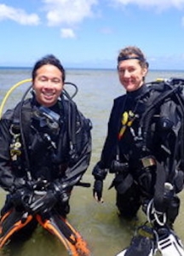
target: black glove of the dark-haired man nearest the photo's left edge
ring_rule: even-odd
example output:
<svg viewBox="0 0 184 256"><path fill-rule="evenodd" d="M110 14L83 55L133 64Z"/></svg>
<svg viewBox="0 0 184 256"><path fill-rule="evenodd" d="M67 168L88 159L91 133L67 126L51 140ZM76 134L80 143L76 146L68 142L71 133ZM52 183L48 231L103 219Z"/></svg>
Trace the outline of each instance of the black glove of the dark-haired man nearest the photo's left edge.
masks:
<svg viewBox="0 0 184 256"><path fill-rule="evenodd" d="M27 189L26 187L17 189L14 193L10 195L11 201L14 207L20 210L26 210L30 212L30 204L32 203L33 191Z"/></svg>

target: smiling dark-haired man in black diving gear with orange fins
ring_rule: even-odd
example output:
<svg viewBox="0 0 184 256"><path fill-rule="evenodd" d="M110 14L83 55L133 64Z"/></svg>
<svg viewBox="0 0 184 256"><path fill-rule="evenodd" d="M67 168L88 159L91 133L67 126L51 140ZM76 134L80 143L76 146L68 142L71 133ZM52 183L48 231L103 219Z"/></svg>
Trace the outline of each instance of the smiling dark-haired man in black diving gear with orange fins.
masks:
<svg viewBox="0 0 184 256"><path fill-rule="evenodd" d="M89 166L91 124L64 93L64 83L64 67L55 55L46 55L32 69L32 97L0 120L0 185L9 192L1 211L0 247L15 231L21 234L21 222L16 222L23 215L22 225L31 223L28 230L35 228L37 214L39 223L49 219L52 224L53 214L66 219L72 189ZM61 241L79 250L78 241L67 235L72 230L65 228Z"/></svg>

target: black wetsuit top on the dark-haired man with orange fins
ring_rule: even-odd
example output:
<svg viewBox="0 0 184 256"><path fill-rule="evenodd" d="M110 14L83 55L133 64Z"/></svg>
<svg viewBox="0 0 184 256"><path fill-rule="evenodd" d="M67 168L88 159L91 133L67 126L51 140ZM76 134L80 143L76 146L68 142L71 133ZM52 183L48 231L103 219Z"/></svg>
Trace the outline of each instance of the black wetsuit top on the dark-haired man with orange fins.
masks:
<svg viewBox="0 0 184 256"><path fill-rule="evenodd" d="M23 104L21 114L26 148L23 146L21 135L18 136L18 143L21 144L18 148L20 154L14 154L17 142L14 142L16 136L13 135L20 134L20 104L4 113L0 121L0 185L10 193L16 191L16 186L19 189L22 181L27 182L28 172L31 173L32 181L44 180L46 183L52 183L57 180L64 183L66 177L73 173L71 180L77 178L78 182L89 166L89 119L83 117L74 102L62 98L55 106L49 108L49 111L59 116L58 124L55 124L58 125L56 129L52 122L48 125L47 118L39 116L39 108L34 97ZM26 161L25 149L29 164ZM70 193L72 187L69 186L67 190ZM61 213L69 212L68 202L59 207L63 211Z"/></svg>

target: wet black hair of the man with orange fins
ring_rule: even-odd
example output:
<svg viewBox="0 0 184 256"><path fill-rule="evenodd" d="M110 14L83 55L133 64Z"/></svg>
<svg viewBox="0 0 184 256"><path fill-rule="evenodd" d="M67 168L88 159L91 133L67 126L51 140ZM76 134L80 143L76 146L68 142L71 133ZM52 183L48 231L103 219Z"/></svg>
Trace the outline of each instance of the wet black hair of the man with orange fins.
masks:
<svg viewBox="0 0 184 256"><path fill-rule="evenodd" d="M60 60L58 60L55 55L45 55L42 59L36 62L35 66L32 69L32 81L37 76L37 69L42 67L43 65L53 65L60 69L60 72L62 73L62 81L65 82L66 79L66 72L64 67L61 65Z"/></svg>

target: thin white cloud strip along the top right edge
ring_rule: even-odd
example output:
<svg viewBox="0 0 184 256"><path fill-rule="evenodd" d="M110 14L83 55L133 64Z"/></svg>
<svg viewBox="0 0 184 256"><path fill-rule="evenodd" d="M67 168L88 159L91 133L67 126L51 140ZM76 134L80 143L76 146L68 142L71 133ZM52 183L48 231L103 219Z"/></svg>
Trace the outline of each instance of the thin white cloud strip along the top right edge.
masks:
<svg viewBox="0 0 184 256"><path fill-rule="evenodd" d="M136 4L141 7L155 7L159 10L168 8L184 9L184 0L109 0L111 3L125 5Z"/></svg>

